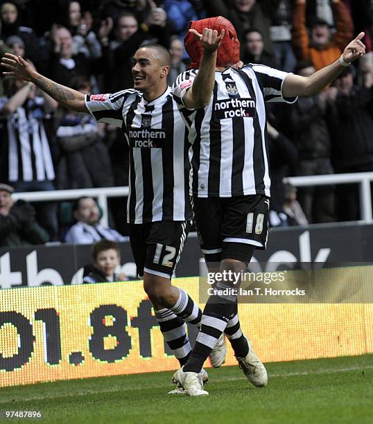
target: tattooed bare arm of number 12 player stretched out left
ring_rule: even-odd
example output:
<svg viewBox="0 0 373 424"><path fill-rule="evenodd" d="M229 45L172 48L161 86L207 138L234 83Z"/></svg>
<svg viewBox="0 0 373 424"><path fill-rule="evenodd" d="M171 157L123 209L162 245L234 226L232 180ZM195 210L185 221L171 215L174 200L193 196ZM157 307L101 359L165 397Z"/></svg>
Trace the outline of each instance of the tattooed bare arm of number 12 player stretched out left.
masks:
<svg viewBox="0 0 373 424"><path fill-rule="evenodd" d="M1 58L1 66L8 69L8 71L3 72L3 75L31 81L46 94L54 98L60 105L73 109L76 112L89 113L85 106L84 94L60 85L37 73L21 56L5 53L3 58Z"/></svg>

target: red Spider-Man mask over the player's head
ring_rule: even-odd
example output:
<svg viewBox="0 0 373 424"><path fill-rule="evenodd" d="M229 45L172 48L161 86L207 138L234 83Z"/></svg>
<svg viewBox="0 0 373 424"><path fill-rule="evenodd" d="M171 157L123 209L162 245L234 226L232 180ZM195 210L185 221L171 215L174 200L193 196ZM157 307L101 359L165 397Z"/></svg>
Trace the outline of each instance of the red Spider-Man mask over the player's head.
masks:
<svg viewBox="0 0 373 424"><path fill-rule="evenodd" d="M199 21L190 21L189 29L195 29L202 34L205 28L217 30L220 35L221 30L225 30L223 39L218 48L216 58L216 67L229 67L240 60L240 42L237 38L236 30L231 21L225 17L218 16L214 18L200 19ZM199 39L196 39L193 33L186 33L184 38L185 49L191 58L191 68L198 69L202 59L203 46Z"/></svg>

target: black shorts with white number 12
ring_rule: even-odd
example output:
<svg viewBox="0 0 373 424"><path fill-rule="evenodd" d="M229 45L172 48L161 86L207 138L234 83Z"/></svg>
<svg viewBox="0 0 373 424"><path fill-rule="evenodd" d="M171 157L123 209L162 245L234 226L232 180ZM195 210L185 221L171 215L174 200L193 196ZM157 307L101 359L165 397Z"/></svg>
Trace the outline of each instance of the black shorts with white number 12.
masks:
<svg viewBox="0 0 373 424"><path fill-rule="evenodd" d="M190 227L190 221L130 224L130 243L137 275L142 277L145 271L171 279Z"/></svg>

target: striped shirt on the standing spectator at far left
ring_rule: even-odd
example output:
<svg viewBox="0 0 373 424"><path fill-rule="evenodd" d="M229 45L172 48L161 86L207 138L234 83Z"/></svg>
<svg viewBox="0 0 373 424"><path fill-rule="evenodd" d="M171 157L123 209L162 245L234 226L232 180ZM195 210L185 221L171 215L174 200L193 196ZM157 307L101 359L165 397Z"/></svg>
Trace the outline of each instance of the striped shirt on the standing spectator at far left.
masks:
<svg viewBox="0 0 373 424"><path fill-rule="evenodd" d="M0 98L0 111L9 98ZM49 141L43 125L44 98L28 99L0 122L0 178L8 182L55 179Z"/></svg>

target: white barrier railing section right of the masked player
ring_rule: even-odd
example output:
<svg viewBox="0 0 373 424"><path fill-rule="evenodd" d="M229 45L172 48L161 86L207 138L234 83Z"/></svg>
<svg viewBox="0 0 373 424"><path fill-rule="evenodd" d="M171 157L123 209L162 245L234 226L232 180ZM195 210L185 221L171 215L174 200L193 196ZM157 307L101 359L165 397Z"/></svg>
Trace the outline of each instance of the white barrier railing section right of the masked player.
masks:
<svg viewBox="0 0 373 424"><path fill-rule="evenodd" d="M373 173L351 173L332 175L310 175L305 177L287 177L284 182L289 182L295 187L326 186L329 184L359 184L361 220L372 223L372 192L370 182L373 181Z"/></svg>

